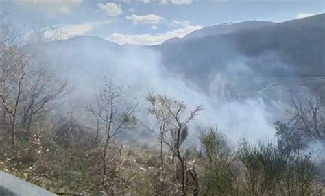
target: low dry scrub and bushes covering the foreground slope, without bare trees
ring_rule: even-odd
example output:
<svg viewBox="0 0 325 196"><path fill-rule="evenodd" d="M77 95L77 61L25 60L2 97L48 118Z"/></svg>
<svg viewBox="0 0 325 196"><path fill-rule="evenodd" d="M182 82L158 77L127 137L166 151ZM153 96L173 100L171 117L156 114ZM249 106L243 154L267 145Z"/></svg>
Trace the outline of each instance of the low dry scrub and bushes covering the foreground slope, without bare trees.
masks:
<svg viewBox="0 0 325 196"><path fill-rule="evenodd" d="M106 157L93 145L95 132L76 122L34 127L16 147L1 133L0 169L53 193L84 195L317 195L324 186L315 164L304 154L281 154L276 145L241 142L228 147L215 127L200 134L199 149L184 149L185 190L179 162L158 150L111 143ZM21 130L19 130L21 132ZM102 143L105 143L103 140ZM100 146L100 145L99 145ZM106 176L99 173L104 167ZM162 176L163 175L163 176ZM163 182L163 183L162 183Z"/></svg>

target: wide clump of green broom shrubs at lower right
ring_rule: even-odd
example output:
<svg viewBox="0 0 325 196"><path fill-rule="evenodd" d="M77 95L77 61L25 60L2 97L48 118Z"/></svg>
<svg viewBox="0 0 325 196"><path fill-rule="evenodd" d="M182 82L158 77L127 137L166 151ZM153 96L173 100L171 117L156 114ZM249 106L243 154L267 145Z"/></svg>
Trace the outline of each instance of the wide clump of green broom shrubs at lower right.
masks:
<svg viewBox="0 0 325 196"><path fill-rule="evenodd" d="M272 143L241 143L248 191L254 195L310 195L313 164L302 154L282 154Z"/></svg>

